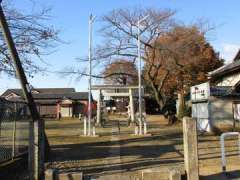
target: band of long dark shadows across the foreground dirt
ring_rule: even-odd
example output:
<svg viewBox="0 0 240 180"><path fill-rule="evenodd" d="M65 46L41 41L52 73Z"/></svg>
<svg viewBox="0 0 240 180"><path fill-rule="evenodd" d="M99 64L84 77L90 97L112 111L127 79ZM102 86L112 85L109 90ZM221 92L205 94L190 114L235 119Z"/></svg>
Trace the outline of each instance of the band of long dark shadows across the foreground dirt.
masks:
<svg viewBox="0 0 240 180"><path fill-rule="evenodd" d="M51 146L50 161L52 164L57 164L55 166L57 169L63 171L81 169L84 174L130 172L161 165L179 164L183 162L183 154L175 147L182 145L181 138L176 138L179 135L176 133L170 136L155 135L92 143L53 145ZM171 139L169 144L151 143L153 141L161 142L168 138ZM167 153L175 155L161 157ZM116 162L115 159L120 159L120 162ZM103 163L84 164L82 163L84 160L102 161Z"/></svg>

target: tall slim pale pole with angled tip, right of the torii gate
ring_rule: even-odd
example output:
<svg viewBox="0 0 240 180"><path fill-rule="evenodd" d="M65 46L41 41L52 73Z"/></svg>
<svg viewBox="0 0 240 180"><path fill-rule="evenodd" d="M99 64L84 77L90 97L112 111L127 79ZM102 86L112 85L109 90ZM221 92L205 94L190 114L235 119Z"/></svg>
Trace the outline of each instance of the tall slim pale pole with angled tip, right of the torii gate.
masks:
<svg viewBox="0 0 240 180"><path fill-rule="evenodd" d="M149 15L143 17L142 19L138 20L138 112L139 112L139 134L142 135L142 61L141 61L141 32L140 32L140 25L141 22L143 22L146 18L148 18Z"/></svg>

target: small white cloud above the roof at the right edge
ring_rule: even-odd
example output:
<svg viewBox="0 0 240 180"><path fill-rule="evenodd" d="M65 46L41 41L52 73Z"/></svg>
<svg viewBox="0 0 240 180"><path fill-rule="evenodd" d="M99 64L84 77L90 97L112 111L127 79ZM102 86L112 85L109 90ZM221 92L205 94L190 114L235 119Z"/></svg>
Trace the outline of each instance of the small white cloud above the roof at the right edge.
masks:
<svg viewBox="0 0 240 180"><path fill-rule="evenodd" d="M220 55L226 62L231 62L238 50L240 49L240 44L233 43L223 43L220 51Z"/></svg>

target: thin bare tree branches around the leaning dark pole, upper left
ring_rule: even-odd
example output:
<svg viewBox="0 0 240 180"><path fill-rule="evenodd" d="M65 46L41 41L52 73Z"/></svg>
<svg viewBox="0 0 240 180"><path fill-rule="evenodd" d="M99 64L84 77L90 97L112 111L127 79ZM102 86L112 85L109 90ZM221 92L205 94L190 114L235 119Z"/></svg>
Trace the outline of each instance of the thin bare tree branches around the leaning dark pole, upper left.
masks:
<svg viewBox="0 0 240 180"><path fill-rule="evenodd" d="M14 8L10 0L4 1L3 9L24 70L32 76L41 70L38 63L32 59L37 57L43 61L42 55L54 51L54 47L60 42L59 31L46 23L50 18L51 9L42 8L38 12L27 14ZM14 76L15 71L2 34L0 34L0 47L0 72Z"/></svg>

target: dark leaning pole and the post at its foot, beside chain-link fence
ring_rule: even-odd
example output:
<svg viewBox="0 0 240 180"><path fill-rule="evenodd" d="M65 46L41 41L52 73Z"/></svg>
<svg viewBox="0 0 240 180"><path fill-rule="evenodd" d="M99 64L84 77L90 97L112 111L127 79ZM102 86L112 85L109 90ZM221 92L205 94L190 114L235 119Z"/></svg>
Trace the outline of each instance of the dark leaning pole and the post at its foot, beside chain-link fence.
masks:
<svg viewBox="0 0 240 180"><path fill-rule="evenodd" d="M43 122L40 120L39 113L36 108L36 104L33 100L31 89L29 83L27 81L26 75L24 73L24 69L22 67L17 49L15 47L11 32L9 30L2 6L0 1L0 26L2 28L3 37L8 46L10 55L13 60L14 68L16 70L17 78L20 81L23 95L25 100L27 101L30 113L31 113L31 121L29 127L29 172L31 180L38 180L41 178L41 175L44 170L44 142L43 139L44 131L43 131ZM47 141L46 141L47 142Z"/></svg>

